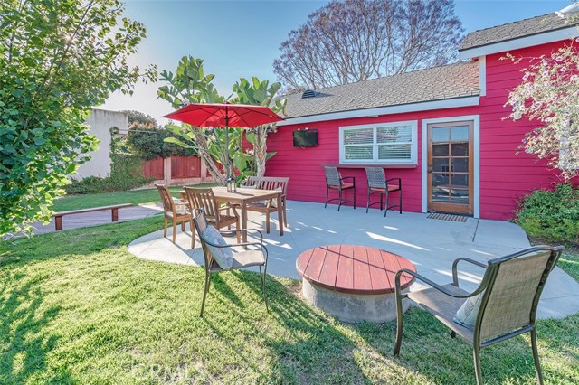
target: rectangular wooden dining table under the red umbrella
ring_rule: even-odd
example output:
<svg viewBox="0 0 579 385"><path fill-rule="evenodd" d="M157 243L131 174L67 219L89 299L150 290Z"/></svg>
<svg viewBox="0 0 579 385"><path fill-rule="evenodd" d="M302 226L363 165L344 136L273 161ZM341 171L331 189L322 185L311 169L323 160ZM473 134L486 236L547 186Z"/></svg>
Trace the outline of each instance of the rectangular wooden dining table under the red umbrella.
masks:
<svg viewBox="0 0 579 385"><path fill-rule="evenodd" d="M226 187L212 187L215 200L218 203L228 202L239 205L242 215L242 229L247 229L247 205L252 202L269 201L271 199L277 200L278 207L278 223L280 227L280 235L283 235L283 213L281 207L281 192L277 190L257 190L238 188L236 192L227 192ZM181 192L183 197L185 192ZM247 232L242 231L242 242L247 242Z"/></svg>

